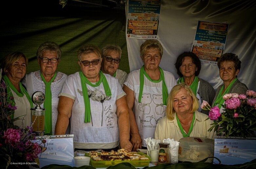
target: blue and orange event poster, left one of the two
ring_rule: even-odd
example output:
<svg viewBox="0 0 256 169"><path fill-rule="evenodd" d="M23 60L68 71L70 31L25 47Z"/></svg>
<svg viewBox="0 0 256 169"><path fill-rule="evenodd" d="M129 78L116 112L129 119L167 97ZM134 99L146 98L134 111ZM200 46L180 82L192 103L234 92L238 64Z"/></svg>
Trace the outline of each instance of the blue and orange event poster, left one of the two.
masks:
<svg viewBox="0 0 256 169"><path fill-rule="evenodd" d="M161 0L129 0L127 37L157 39Z"/></svg>

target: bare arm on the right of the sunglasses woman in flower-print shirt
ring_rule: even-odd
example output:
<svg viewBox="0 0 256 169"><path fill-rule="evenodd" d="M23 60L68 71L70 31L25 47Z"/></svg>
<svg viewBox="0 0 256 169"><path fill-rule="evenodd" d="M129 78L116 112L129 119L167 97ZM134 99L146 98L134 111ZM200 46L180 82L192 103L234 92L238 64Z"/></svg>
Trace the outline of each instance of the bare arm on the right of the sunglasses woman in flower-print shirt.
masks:
<svg viewBox="0 0 256 169"><path fill-rule="evenodd" d="M131 152L132 144L130 143L130 122L128 106L125 96L116 100L116 115L118 117L118 128L120 137L120 146L126 151Z"/></svg>

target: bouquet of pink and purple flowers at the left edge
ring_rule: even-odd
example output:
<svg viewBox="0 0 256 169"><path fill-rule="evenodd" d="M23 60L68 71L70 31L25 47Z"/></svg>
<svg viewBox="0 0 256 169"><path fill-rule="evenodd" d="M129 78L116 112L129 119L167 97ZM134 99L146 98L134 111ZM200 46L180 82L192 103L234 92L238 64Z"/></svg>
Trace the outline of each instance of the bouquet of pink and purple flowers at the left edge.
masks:
<svg viewBox="0 0 256 169"><path fill-rule="evenodd" d="M2 69L0 70L1 80ZM6 85L0 82L0 168L39 168L38 154L41 153L44 145L32 143L35 133L30 126L14 126L16 120L23 120L21 117L13 118L16 110L13 97L6 93ZM23 124L23 122L22 122ZM43 140L41 144L45 144ZM23 165L19 165L22 163ZM28 163L28 165L27 165Z"/></svg>

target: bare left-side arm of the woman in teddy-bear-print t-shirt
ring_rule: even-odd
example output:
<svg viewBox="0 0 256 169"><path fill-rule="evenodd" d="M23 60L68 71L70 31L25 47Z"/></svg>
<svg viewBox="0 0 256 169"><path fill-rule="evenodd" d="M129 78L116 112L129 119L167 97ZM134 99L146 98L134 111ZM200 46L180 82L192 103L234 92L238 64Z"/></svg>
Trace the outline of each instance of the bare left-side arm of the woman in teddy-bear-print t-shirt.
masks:
<svg viewBox="0 0 256 169"><path fill-rule="evenodd" d="M138 148L141 148L142 140L139 134L138 126L136 124L134 113L132 111L135 100L134 92L131 89L129 89L126 85L124 85L123 90L126 93L126 101L129 110L132 151L136 151Z"/></svg>

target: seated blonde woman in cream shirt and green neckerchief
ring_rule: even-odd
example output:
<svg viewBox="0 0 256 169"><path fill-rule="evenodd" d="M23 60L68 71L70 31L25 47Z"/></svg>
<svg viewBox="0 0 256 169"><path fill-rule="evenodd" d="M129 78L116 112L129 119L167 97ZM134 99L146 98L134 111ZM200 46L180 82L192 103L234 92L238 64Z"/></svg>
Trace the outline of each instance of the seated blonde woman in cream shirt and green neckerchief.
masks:
<svg viewBox="0 0 256 169"><path fill-rule="evenodd" d="M183 137L214 139L214 131L206 114L197 111L198 101L193 91L185 84L174 86L168 96L166 116L156 126L155 139L170 138L179 141Z"/></svg>

